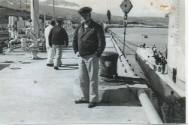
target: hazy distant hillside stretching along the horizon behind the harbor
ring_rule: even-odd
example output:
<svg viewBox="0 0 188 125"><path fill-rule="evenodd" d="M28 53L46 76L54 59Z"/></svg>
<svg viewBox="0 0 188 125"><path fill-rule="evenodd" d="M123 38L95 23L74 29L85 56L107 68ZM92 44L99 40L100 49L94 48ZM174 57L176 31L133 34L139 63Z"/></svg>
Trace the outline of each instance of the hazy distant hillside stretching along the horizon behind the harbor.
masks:
<svg viewBox="0 0 188 125"><path fill-rule="evenodd" d="M14 16L23 16L23 17L30 17L29 10L19 10L18 5L0 5L0 16L1 20L7 20L9 15ZM44 13L49 17L53 16L51 6L40 6L40 15L42 16ZM74 9L67 9L67 8L55 8L55 15L56 17L61 16L62 18L70 18L73 22L79 22L80 16L77 10ZM92 18L97 22L106 22L107 18L104 14L92 13ZM112 23L123 24L123 17L120 16L112 16ZM143 25L155 25L155 26L167 26L168 25L168 18L158 18L158 17L128 17L128 24L143 24Z"/></svg>

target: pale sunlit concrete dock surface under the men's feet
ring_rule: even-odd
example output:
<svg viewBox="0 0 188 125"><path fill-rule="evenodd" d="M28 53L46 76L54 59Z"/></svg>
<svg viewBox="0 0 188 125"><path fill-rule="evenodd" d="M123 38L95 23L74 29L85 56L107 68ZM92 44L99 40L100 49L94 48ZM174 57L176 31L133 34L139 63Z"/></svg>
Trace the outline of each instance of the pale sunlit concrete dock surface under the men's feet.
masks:
<svg viewBox="0 0 188 125"><path fill-rule="evenodd" d="M99 83L99 104L75 104L78 64L71 47L59 70L46 66L46 53L31 60L20 49L0 55L0 124L147 124L133 91L145 85Z"/></svg>

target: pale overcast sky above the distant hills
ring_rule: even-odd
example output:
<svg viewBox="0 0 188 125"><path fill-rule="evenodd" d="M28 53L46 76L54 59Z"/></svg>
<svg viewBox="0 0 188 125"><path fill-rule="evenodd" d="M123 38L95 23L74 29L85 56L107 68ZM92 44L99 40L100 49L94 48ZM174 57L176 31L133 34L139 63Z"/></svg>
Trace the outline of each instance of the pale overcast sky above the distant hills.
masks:
<svg viewBox="0 0 188 125"><path fill-rule="evenodd" d="M96 13L106 14L107 9L111 10L113 15L122 16L123 12L120 9L122 0L55 0L59 2L74 3L75 6L64 6L58 4L59 7L66 7L71 9L79 9L83 6L90 6ZM165 12L160 11L159 4L161 1L168 0L131 0L133 9L130 11L130 16L164 16Z"/></svg>

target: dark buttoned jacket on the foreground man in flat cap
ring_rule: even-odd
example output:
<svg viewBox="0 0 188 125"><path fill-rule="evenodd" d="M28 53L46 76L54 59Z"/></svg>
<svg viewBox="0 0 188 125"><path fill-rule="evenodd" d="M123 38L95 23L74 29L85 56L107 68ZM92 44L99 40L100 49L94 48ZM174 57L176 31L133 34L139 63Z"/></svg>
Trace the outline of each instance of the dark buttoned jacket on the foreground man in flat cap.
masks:
<svg viewBox="0 0 188 125"><path fill-rule="evenodd" d="M81 24L75 31L73 39L74 52L79 52L80 56L97 54L101 56L106 46L104 31L102 26L90 20L88 28L84 31Z"/></svg>

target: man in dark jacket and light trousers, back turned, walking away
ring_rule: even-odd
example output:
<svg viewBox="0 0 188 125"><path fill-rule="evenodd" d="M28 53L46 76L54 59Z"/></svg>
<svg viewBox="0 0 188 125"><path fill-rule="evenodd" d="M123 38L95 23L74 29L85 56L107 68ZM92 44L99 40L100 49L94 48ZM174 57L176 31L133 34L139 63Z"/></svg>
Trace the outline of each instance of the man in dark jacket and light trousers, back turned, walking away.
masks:
<svg viewBox="0 0 188 125"><path fill-rule="evenodd" d="M62 28L62 20L57 20L58 25L54 26L49 35L49 45L55 50L54 69L58 70L61 65L63 46L68 46L68 35L64 28Z"/></svg>

